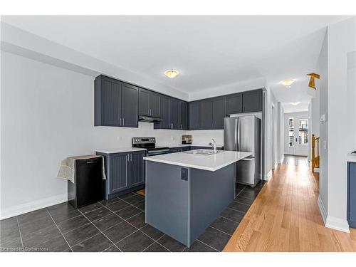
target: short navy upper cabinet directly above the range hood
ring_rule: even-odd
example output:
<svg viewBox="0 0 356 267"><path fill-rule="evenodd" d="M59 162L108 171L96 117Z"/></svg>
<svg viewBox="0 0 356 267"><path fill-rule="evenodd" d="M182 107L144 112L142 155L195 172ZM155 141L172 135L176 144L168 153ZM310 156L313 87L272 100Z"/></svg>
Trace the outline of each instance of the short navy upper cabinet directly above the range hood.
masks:
<svg viewBox="0 0 356 267"><path fill-rule="evenodd" d="M160 117L159 109L159 97L158 93L154 93L150 90L140 88L139 92L139 114Z"/></svg>

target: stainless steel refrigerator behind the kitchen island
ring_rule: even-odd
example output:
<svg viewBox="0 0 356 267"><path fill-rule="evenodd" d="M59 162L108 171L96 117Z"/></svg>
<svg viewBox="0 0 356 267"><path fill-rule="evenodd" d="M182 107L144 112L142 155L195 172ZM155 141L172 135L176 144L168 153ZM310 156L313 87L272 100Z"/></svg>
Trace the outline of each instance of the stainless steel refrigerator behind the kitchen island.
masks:
<svg viewBox="0 0 356 267"><path fill-rule="evenodd" d="M261 179L261 120L254 115L224 118L224 150L252 152L236 162L236 182L255 187Z"/></svg>

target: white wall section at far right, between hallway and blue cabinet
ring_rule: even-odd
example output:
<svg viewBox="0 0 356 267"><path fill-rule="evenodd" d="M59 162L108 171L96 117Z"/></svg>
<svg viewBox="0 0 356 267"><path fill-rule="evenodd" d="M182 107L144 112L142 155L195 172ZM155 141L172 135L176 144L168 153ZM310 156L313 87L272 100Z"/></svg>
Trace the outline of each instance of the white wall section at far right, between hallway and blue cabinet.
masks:
<svg viewBox="0 0 356 267"><path fill-rule="evenodd" d="M326 225L349 231L347 212L347 152L354 147L354 114L348 112L347 54L356 51L356 19L328 26L328 217ZM321 103L322 99L320 99ZM351 103L355 105L355 103ZM320 114L323 114L320 112ZM352 130L353 129L353 130ZM321 132L321 127L320 127Z"/></svg>

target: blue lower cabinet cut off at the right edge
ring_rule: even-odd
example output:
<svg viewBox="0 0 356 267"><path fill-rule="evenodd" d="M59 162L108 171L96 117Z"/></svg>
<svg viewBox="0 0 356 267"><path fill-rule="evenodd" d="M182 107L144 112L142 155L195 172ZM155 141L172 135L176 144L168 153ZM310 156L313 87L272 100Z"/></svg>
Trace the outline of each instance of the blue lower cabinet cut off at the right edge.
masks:
<svg viewBox="0 0 356 267"><path fill-rule="evenodd" d="M356 228L356 162L347 163L347 221Z"/></svg>

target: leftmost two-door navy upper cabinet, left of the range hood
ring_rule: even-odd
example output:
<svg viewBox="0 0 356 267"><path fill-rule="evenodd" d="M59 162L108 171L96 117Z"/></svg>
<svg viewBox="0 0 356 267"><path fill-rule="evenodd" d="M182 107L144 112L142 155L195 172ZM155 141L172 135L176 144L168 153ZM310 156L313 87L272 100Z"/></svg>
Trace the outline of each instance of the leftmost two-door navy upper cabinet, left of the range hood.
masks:
<svg viewBox="0 0 356 267"><path fill-rule="evenodd" d="M95 126L138 127L138 88L103 75L95 78Z"/></svg>

